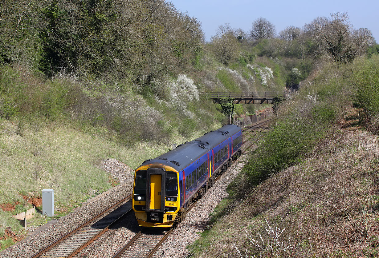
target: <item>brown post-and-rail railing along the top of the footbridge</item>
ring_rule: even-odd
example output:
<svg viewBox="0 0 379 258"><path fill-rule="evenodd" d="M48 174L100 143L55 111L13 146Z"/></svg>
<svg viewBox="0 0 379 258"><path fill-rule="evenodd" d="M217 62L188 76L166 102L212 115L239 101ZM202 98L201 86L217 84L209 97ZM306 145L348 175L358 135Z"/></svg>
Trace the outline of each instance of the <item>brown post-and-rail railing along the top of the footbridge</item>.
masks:
<svg viewBox="0 0 379 258"><path fill-rule="evenodd" d="M200 92L200 96L205 96L209 99L219 98L274 98L274 97L289 97L293 92Z"/></svg>

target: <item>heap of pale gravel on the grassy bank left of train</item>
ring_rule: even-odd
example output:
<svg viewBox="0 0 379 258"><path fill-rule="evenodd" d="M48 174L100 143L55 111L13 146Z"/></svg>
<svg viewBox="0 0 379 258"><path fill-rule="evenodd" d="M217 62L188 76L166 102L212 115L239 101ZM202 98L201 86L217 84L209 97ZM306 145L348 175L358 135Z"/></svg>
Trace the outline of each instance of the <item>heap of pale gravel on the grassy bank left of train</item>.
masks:
<svg viewBox="0 0 379 258"><path fill-rule="evenodd" d="M124 182L134 174L133 169L116 159L102 160L100 163L100 168L110 173L112 177L117 179L117 182L119 183Z"/></svg>

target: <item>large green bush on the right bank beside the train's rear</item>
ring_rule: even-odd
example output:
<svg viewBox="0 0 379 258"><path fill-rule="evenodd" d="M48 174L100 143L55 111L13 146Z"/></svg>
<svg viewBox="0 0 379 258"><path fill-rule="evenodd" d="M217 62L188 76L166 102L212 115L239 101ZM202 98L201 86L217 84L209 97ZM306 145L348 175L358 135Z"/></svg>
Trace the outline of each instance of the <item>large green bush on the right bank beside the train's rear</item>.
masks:
<svg viewBox="0 0 379 258"><path fill-rule="evenodd" d="M315 107L304 99L282 104L277 110L276 123L243 168L250 187L311 151L330 127L324 122L334 121L335 113L330 110L330 107Z"/></svg>

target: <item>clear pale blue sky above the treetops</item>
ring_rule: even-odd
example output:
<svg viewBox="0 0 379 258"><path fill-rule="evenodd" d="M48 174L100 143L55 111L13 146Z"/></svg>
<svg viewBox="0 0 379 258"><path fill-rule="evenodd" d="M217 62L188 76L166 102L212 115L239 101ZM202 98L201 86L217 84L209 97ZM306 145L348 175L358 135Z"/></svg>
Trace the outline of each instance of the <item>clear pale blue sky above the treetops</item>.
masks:
<svg viewBox="0 0 379 258"><path fill-rule="evenodd" d="M318 16L347 12L354 28L368 28L379 43L379 0L169 0L174 6L194 16L202 24L205 39L216 34L219 25L248 32L252 22L263 17L273 23L276 32L287 26L302 27Z"/></svg>

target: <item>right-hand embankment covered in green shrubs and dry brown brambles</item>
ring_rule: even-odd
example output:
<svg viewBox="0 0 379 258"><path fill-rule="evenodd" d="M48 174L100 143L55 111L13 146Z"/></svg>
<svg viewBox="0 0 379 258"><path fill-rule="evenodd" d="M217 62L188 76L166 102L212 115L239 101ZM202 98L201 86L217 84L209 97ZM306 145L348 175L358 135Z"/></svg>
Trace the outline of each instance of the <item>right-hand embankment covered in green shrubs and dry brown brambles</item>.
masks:
<svg viewBox="0 0 379 258"><path fill-rule="evenodd" d="M378 56L315 70L283 103L194 256L377 257L378 75Z"/></svg>

